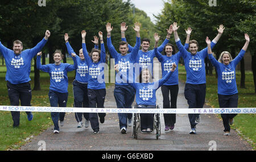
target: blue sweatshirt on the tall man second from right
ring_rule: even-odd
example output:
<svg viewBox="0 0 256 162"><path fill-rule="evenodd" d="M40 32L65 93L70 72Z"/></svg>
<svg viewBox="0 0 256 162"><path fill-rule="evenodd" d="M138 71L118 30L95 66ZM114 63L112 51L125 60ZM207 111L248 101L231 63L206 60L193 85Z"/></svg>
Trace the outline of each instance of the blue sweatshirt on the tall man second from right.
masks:
<svg viewBox="0 0 256 162"><path fill-rule="evenodd" d="M188 84L205 84L206 77L204 59L208 55L207 48L204 48L201 51L197 52L195 55L192 55L184 48L180 40L176 40L176 44L179 48L181 56L184 59L185 69L187 72L186 82ZM211 48L213 48L215 44L216 43L212 41L210 43Z"/></svg>

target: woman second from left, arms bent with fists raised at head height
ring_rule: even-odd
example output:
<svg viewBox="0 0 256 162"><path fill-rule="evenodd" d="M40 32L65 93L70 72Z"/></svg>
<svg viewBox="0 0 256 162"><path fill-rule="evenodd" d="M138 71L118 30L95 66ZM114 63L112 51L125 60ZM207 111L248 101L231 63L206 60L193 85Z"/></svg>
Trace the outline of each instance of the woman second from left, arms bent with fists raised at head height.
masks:
<svg viewBox="0 0 256 162"><path fill-rule="evenodd" d="M50 86L49 86L49 101L51 107L66 107L68 101L68 75L67 73L77 69L76 54L72 53L72 59L74 65L61 63L63 55L60 50L56 50L53 53L54 64L41 65L41 55L39 52L36 58L36 68L42 70L43 72L49 73L50 76ZM60 126L64 124L65 113L52 112L51 113L52 122L54 124L53 133L59 133L59 119Z"/></svg>

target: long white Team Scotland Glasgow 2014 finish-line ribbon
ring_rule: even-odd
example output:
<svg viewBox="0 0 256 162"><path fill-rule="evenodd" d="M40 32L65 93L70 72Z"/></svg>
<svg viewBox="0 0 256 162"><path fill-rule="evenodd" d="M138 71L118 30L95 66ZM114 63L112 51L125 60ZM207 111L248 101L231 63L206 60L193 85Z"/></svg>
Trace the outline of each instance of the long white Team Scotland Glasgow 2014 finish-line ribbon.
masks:
<svg viewBox="0 0 256 162"><path fill-rule="evenodd" d="M132 109L91 107L39 107L0 106L0 111L65 112L65 113L160 113L160 114L255 114L255 107L247 108L177 108L177 109Z"/></svg>

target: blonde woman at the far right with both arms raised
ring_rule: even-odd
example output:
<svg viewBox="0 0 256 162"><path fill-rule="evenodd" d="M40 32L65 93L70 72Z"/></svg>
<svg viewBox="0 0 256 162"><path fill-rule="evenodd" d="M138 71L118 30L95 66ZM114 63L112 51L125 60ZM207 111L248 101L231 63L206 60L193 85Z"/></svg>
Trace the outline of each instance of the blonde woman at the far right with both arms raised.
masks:
<svg viewBox="0 0 256 162"><path fill-rule="evenodd" d="M245 34L245 45L241 49L236 58L232 60L229 52L221 53L218 61L212 56L212 49L210 49L210 40L207 37L205 40L208 45L208 56L210 62L217 70L218 74L218 103L221 108L233 108L238 105L238 90L236 83L236 66L245 55L245 51L249 45L249 35ZM234 117L237 114L221 114L224 124L224 135L230 135L230 125L234 122Z"/></svg>

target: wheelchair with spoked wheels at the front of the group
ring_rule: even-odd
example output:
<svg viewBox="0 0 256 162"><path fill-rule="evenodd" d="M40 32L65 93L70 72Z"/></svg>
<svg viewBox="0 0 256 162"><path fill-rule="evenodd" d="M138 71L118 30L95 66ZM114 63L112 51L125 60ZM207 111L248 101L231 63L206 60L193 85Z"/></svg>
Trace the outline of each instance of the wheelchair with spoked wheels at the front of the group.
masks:
<svg viewBox="0 0 256 162"><path fill-rule="evenodd" d="M137 109L137 105L133 106L133 109ZM156 109L160 109L160 107L158 105L156 105ZM161 128L160 128L160 114L156 113L154 114L154 127L152 132L142 132L141 131L141 117L139 115L139 113L133 113L133 125L131 128L131 132L134 136L135 139L138 139L138 131L140 131L142 134L153 134L155 132L156 134L156 139L159 138L160 136L160 132L161 132Z"/></svg>

